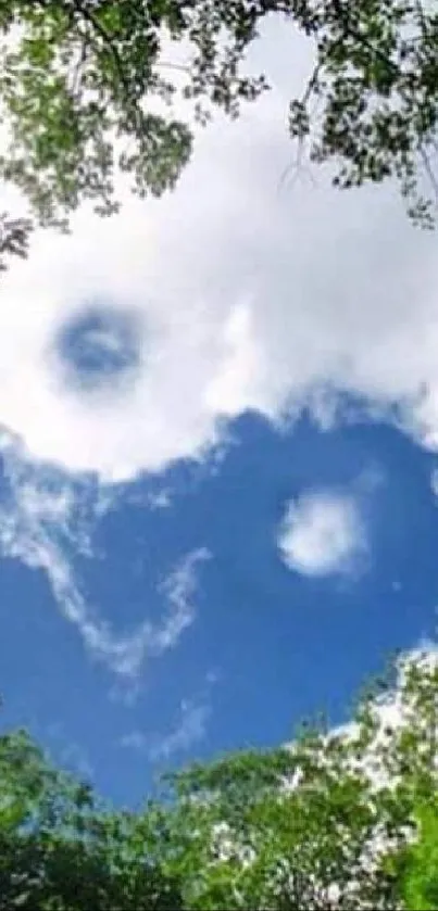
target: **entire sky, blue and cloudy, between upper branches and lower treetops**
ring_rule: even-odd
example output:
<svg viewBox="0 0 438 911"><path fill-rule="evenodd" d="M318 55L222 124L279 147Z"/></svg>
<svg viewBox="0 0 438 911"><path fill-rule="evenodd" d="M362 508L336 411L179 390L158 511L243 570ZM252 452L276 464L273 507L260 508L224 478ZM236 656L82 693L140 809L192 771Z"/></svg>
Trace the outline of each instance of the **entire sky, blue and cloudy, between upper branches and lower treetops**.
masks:
<svg viewBox="0 0 438 911"><path fill-rule="evenodd" d="M174 193L2 278L2 723L117 802L436 634L436 235L281 184L296 51L266 29L275 90Z"/></svg>

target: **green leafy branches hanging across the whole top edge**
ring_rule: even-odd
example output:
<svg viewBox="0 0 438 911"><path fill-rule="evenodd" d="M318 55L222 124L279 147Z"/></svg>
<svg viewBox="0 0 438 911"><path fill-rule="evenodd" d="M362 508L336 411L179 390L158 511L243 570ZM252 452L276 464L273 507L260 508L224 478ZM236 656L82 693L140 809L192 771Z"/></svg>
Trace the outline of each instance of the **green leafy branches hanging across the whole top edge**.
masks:
<svg viewBox="0 0 438 911"><path fill-rule="evenodd" d="M268 87L268 73L248 77L245 58L270 13L306 35L315 54L303 96L290 102L301 149L331 162L340 187L395 177L410 215L431 225L436 0L0 0L10 132L0 177L40 224L61 228L86 199L102 215L116 212L117 172L140 197L172 189L192 149L179 92L202 122L214 105L237 116ZM178 66L180 42L187 64Z"/></svg>

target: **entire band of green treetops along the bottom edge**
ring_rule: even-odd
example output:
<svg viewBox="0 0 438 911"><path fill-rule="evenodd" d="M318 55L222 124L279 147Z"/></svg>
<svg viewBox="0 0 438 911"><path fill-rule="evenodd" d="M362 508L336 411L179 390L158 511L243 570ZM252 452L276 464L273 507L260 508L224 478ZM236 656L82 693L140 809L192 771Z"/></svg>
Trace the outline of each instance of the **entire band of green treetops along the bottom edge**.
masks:
<svg viewBox="0 0 438 911"><path fill-rule="evenodd" d="M437 733L438 662L416 656L352 726L191 766L136 812L3 734L0 909L431 911Z"/></svg>

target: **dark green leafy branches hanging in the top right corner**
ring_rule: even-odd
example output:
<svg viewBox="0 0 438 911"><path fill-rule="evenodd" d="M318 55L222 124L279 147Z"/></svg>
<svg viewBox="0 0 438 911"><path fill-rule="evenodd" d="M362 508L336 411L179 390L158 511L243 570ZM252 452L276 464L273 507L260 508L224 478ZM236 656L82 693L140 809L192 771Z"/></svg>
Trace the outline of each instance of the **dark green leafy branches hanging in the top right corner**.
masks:
<svg viewBox="0 0 438 911"><path fill-rule="evenodd" d="M436 0L328 0L301 7L316 46L290 131L310 157L333 161L341 188L395 178L414 222L431 227L438 203ZM313 117L311 104L316 102Z"/></svg>

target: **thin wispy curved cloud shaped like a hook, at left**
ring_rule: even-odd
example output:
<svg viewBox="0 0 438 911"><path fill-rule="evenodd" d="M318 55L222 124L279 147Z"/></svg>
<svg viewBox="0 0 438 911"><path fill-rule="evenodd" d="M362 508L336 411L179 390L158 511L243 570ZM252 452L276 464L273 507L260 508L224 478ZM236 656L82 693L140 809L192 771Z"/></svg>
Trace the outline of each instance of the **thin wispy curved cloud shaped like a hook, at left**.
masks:
<svg viewBox="0 0 438 911"><path fill-rule="evenodd" d="M4 434L5 490L0 502L0 549L3 556L42 570L53 597L82 636L87 649L117 674L135 679L145 660L174 648L195 620L196 570L210 555L188 554L161 585L165 611L161 621L146 619L134 631L120 632L99 617L84 595L75 557L96 558L92 531L108 507L107 491L28 461Z"/></svg>

